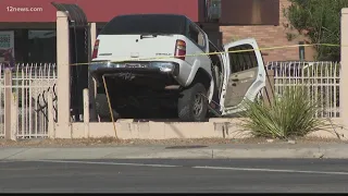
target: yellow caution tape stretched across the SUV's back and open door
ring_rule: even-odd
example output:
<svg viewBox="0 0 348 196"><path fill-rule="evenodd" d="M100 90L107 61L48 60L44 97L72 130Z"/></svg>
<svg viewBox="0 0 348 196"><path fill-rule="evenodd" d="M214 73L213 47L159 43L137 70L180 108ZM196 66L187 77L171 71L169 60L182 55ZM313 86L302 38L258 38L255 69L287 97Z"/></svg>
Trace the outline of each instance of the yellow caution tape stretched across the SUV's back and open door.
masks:
<svg viewBox="0 0 348 196"><path fill-rule="evenodd" d="M158 59L178 58L178 57L198 57L198 56L212 56L212 54L222 54L222 53L240 53L240 52L249 52L249 51L264 51L264 50L276 50L276 49L284 49L284 48L296 48L296 47L313 47L313 46L341 47L340 45L334 45L334 44L288 45L288 46L268 47L268 48L259 48L259 49L232 50L232 51L222 51L222 52L202 52L202 53L194 53L194 54L176 56L176 57L163 56L163 57L153 57L153 58L144 58L144 59L126 58L124 60L110 61L110 62L120 63L120 62L126 62L126 61L149 61L149 60L158 60ZM89 65L89 64L98 64L98 63L100 62L73 63L71 65Z"/></svg>

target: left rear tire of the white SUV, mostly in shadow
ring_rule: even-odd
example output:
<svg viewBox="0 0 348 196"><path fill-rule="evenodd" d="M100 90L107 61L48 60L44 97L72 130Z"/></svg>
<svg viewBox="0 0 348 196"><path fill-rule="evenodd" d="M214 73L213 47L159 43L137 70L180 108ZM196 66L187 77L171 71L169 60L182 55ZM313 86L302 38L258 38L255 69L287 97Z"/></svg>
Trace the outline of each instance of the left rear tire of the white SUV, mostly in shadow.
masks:
<svg viewBox="0 0 348 196"><path fill-rule="evenodd" d="M97 94L96 96L96 112L102 122L111 122L108 97L105 94ZM113 118L119 118L117 112L113 109Z"/></svg>

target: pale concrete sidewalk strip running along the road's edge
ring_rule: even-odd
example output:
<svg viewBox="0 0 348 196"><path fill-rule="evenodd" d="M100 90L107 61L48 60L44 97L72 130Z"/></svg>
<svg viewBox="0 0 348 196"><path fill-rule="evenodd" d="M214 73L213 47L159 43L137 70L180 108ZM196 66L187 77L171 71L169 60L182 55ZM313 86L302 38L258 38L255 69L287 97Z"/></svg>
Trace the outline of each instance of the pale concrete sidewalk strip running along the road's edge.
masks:
<svg viewBox="0 0 348 196"><path fill-rule="evenodd" d="M10 147L0 150L2 160L37 159L224 159L224 158L348 158L348 144L284 145L240 144L197 148L167 146L116 147Z"/></svg>

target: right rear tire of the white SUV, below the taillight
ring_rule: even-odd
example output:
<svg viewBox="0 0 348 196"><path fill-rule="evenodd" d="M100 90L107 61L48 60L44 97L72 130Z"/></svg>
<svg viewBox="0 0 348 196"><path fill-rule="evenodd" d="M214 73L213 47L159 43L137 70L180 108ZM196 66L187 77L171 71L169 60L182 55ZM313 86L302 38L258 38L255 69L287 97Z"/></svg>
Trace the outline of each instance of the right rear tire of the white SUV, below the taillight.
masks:
<svg viewBox="0 0 348 196"><path fill-rule="evenodd" d="M178 98L177 112L183 122L202 122L208 110L207 89L201 83L184 89Z"/></svg>

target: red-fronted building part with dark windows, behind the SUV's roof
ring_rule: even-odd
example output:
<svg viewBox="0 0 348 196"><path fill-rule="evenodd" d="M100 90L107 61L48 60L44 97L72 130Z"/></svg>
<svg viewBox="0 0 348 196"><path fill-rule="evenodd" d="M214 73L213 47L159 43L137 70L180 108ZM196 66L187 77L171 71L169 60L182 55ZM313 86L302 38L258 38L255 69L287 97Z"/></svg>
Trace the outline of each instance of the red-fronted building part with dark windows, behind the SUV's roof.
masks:
<svg viewBox="0 0 348 196"><path fill-rule="evenodd" d="M199 22L200 0L1 0L0 49L11 51L16 62L55 62L55 13L51 2L77 4L88 22L100 30L112 17L129 13L185 14ZM182 7L185 4L185 7ZM5 52L1 52L5 53ZM0 53L0 60L5 59Z"/></svg>

